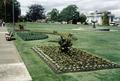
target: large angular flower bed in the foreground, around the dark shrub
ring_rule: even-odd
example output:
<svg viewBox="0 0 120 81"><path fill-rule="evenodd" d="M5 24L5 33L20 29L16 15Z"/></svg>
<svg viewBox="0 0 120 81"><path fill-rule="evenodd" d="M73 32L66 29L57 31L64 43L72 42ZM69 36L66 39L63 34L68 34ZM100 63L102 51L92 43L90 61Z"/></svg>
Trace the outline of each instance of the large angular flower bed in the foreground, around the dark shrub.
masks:
<svg viewBox="0 0 120 81"><path fill-rule="evenodd" d="M70 54L61 53L57 46L37 46L33 50L57 73L120 68L120 65L76 48L72 48Z"/></svg>

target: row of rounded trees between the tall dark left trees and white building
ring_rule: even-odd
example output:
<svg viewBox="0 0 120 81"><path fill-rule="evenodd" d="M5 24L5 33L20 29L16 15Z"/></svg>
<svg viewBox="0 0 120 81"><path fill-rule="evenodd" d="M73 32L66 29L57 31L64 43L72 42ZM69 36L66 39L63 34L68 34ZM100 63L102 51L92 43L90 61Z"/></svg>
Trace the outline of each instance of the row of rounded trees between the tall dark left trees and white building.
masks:
<svg viewBox="0 0 120 81"><path fill-rule="evenodd" d="M80 12L78 11L78 7L76 5L69 5L62 11L53 8L50 12L48 12L45 15L45 9L43 8L43 6L34 4L29 7L26 19L28 21L37 21L40 19L45 19L46 22L65 21L67 22L67 24L69 23L77 24L77 22L85 24L87 17L84 14L80 14Z"/></svg>

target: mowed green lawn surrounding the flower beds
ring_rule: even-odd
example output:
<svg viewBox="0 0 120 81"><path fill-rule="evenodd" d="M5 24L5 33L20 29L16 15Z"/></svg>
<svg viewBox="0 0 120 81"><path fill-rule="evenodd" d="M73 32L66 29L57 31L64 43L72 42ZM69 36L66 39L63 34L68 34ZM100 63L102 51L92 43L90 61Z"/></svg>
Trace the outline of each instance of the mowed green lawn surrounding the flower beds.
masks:
<svg viewBox="0 0 120 81"><path fill-rule="evenodd" d="M72 33L78 38L77 41L73 41L73 47L81 48L87 52L120 64L120 27L108 27L118 31L88 32L72 29L89 29L92 26L40 23L24 24L26 29L30 29L32 31L56 30L58 32ZM25 62L33 81L120 81L120 69L55 74L31 48L35 45L58 45L55 42L49 41L57 40L59 36L49 35L48 39L29 42L23 41L18 36L16 37L16 47Z"/></svg>

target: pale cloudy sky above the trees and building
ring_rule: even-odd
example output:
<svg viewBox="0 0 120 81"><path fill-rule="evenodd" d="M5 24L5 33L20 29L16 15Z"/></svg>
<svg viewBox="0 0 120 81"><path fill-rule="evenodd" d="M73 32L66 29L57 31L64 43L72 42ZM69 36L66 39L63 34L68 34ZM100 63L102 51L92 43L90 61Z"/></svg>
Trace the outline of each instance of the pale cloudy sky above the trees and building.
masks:
<svg viewBox="0 0 120 81"><path fill-rule="evenodd" d="M81 12L87 13L96 10L109 10L116 16L120 16L120 0L18 0L21 3L22 15L28 11L28 6L41 4L48 12L53 8L62 10L70 4L76 4Z"/></svg>

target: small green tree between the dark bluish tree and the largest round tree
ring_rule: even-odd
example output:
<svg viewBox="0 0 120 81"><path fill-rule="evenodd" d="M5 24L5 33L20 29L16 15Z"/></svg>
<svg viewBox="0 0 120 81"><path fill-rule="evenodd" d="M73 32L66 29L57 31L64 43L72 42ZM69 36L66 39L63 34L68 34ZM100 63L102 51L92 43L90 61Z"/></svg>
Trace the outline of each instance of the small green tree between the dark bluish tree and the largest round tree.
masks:
<svg viewBox="0 0 120 81"><path fill-rule="evenodd" d="M51 21L58 21L59 11L54 8L51 12L48 13Z"/></svg>

